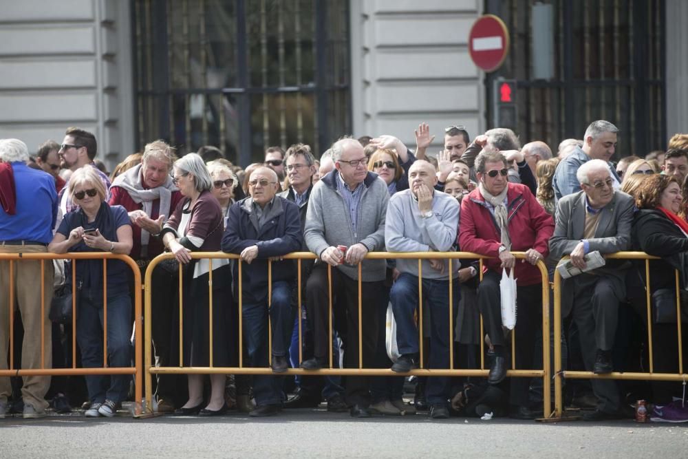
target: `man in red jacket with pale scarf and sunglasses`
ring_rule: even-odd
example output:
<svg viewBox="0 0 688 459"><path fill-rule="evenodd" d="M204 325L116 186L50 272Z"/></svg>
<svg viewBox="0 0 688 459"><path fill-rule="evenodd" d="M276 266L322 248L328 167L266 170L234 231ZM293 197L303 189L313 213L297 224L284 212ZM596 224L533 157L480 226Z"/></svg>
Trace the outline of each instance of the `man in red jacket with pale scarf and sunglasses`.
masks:
<svg viewBox="0 0 688 459"><path fill-rule="evenodd" d="M542 317L542 277L535 265L548 255L555 224L527 186L508 182L502 153L483 150L475 160L475 171L478 188L461 204L459 246L464 252L493 257L485 261L477 301L495 352L488 381L496 385L504 380L508 367L499 291L502 268L513 268L517 279L515 367L531 369L535 330ZM526 252L526 259L515 259L512 251ZM510 405L511 417L534 417L528 409L528 378L511 381Z"/></svg>

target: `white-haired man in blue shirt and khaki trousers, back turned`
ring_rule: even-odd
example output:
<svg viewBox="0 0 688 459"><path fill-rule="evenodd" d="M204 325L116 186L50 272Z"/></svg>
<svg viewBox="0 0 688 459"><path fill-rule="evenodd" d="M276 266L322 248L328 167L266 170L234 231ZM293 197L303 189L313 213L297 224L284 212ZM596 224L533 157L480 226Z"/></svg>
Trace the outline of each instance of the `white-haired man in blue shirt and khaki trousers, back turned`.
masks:
<svg viewBox="0 0 688 459"><path fill-rule="evenodd" d="M57 216L55 182L49 174L27 167L25 163L28 160L29 151L24 142L17 139L0 140L0 161L12 166L17 197L14 215L0 208L0 253L45 253L52 239ZM24 327L21 367L51 368L52 326L48 312L53 291L52 263L43 264L43 288L36 283L36 279L41 279L41 261L24 259L14 261L12 265L13 283L10 285L10 261L0 261L0 369L8 368L10 306L14 306L10 305L10 288L14 292ZM43 339L41 330L45 333ZM16 363L14 367L17 367ZM49 386L50 376L24 376L21 388L24 418L45 416L48 404L44 397ZM0 418L5 417L7 398L11 393L10 378L0 378Z"/></svg>

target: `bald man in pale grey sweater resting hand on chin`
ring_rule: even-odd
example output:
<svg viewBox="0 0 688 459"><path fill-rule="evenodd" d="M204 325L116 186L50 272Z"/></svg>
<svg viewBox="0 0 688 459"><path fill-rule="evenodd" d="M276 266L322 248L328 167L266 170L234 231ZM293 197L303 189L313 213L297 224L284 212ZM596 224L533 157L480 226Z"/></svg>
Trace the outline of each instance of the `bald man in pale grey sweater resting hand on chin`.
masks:
<svg viewBox="0 0 688 459"><path fill-rule="evenodd" d="M417 160L409 169L410 189L391 197L387 207L385 244L390 252L449 252L454 250L459 226L459 204L451 196L434 190L435 168L427 161ZM395 372L408 372L418 367L418 328L413 314L418 308L418 277L422 277L423 299L429 303L431 321L430 368L449 368L449 346L453 345L449 320L449 260L424 259L418 272L416 259L397 259L399 277L389 297L397 324L396 341L401 356L392 365ZM451 264L452 318L459 304L460 261ZM451 332L450 332L451 330ZM450 334L451 333L451 334ZM447 399L449 378L428 378L426 398L430 416L449 418Z"/></svg>

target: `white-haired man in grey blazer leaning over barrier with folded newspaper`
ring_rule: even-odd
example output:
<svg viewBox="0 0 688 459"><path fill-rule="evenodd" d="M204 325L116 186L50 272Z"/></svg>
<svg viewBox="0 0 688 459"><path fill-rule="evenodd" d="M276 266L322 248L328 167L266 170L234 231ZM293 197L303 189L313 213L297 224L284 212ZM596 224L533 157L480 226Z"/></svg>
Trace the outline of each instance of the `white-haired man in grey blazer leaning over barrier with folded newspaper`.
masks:
<svg viewBox="0 0 688 459"><path fill-rule="evenodd" d="M585 162L577 171L581 191L557 203L555 233L550 239L553 260L570 255L577 268L585 268L585 255L626 250L630 242L634 200L614 191L609 165L603 160ZM619 302L626 296L625 263L609 260L603 268L563 281L561 317L569 314L579 330L585 369L595 374L612 372L611 350L616 334ZM598 398L595 412L586 420L616 418L621 398L616 383L592 379Z"/></svg>

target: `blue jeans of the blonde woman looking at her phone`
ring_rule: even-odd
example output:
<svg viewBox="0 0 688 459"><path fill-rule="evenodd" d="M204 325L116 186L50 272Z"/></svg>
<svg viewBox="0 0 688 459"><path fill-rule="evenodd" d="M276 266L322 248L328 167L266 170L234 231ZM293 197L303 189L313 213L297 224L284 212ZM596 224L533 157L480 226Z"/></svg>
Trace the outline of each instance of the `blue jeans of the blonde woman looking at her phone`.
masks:
<svg viewBox="0 0 688 459"><path fill-rule="evenodd" d="M109 291L109 289L108 289ZM110 367L131 366L131 298L122 292L107 299L107 358ZM81 292L76 314L76 339L84 368L103 367L103 295ZM86 376L91 403L124 401L131 376Z"/></svg>

